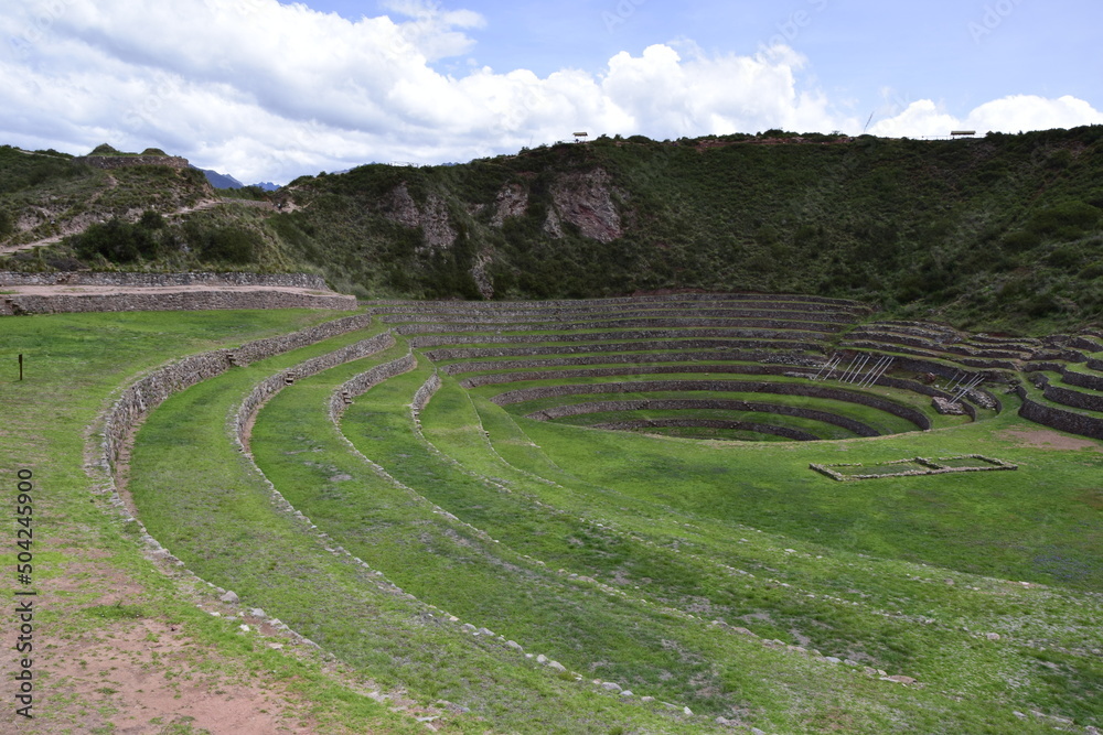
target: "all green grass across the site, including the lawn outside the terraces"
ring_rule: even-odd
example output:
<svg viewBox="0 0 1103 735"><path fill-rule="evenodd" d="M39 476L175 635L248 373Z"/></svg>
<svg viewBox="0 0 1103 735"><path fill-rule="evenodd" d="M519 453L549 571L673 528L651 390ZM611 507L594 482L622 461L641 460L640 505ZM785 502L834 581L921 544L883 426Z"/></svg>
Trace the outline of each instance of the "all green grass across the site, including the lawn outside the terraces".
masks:
<svg viewBox="0 0 1103 735"><path fill-rule="evenodd" d="M334 391L409 354L398 336L394 347L285 386L258 412L249 453L238 450L233 418L259 381L387 328L375 321L182 390L137 432L125 498L144 529L200 580L237 593L240 610L264 608L320 650L245 635L199 612L218 590L159 573L165 565L142 556L135 523L99 491L101 476L85 472L97 417L115 391L167 360L331 317L3 322L0 354L13 365L8 357L23 353L28 375L0 376L0 468L6 484L31 468L44 488L34 517L50 539L36 547L36 579L53 590L43 599L43 641L65 651L86 636L117 635L119 616L87 613L107 609L101 594L57 586L77 574L82 550L95 550L140 588L120 609L140 623L184 626L210 651L196 660L279 684L296 713L288 722L310 732L424 732L422 715L464 733L1103 725L1103 443L1020 419L1018 399L1003 393L1000 412L982 410L972 421L938 415L929 398L903 389L866 389L920 410L931 431L859 403L716 393L837 412L885 435L838 439L811 420L778 417L827 439L660 436L587 424L746 414L639 410L536 421L526 415L579 400L690 392L569 393L614 383L608 376L465 389L438 370L449 359L435 363L437 347L426 347L413 350L413 369L351 399L334 422ZM730 365L721 353L717 364ZM431 400L411 410L435 375ZM624 379L711 378L750 379L654 375L642 360ZM492 400L547 387L567 392ZM853 483L810 468L972 454L1018 468ZM15 551L2 550L9 569ZM286 648L268 646L277 640ZM62 696L66 681L51 680L51 660L40 728L26 732L86 732L89 711L100 713L99 732L113 732L110 698ZM400 711L377 702L381 693L401 700Z"/></svg>

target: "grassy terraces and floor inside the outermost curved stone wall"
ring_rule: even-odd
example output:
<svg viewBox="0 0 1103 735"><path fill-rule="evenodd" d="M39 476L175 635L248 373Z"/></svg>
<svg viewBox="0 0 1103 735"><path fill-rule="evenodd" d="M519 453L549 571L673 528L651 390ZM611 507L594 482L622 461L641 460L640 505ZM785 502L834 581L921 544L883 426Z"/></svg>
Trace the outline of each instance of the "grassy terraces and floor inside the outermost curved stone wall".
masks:
<svg viewBox="0 0 1103 735"><path fill-rule="evenodd" d="M642 303L586 309L629 321ZM460 304L439 307L464 315ZM374 309L387 314L385 304ZM189 569L237 592L246 608L279 617L373 688L403 689L440 717L435 726L1041 733L1103 724L1103 443L1018 418L1014 396L1000 393L1004 410L979 410L973 421L936 414L929 396L837 380L812 385L892 400L935 428L917 431L869 406L761 391L708 398L806 407L889 435L857 439L799 417L699 408L533 421L525 415L534 410L576 401L703 392L635 394L618 382L625 380L808 385L751 368L807 372L835 346L828 336L816 350L759 346L748 350L753 360L706 348L693 371L678 372L688 352L627 350L613 361L600 350L618 342L610 335L585 353L558 342L535 358L435 364L451 348L440 332L439 344L415 346L411 370L355 398L339 423L329 413L334 391L405 356L422 335L286 386L253 426L256 465L236 450L233 414L261 379L407 317L440 322L431 304L417 314L395 309L373 329L233 368L169 399L138 433L129 487L139 518ZM515 306L473 311L494 309ZM590 321L565 323L564 313L578 311L566 303L528 311L547 314L542 334L577 334L571 325ZM500 326L479 325L495 337ZM693 328L664 327L656 342ZM481 334L460 333L454 344ZM698 371L710 365L715 371ZM629 374L587 375L583 366ZM547 369L563 374L531 379ZM439 387L411 412L435 374ZM494 382L464 387L484 376ZM603 383L615 388L570 392ZM532 388L566 392L492 400ZM700 441L572 425L664 419L757 420L826 441ZM836 483L808 468L965 454L1019 469ZM265 478L306 519L275 504ZM333 705L326 722L414 726L368 705L358 720Z"/></svg>

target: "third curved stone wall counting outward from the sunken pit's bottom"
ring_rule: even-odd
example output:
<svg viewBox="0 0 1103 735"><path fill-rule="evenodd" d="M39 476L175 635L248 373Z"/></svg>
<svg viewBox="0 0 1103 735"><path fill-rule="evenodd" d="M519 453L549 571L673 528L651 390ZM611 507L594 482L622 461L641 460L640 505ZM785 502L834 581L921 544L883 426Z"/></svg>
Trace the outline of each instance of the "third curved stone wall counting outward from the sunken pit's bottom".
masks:
<svg viewBox="0 0 1103 735"><path fill-rule="evenodd" d="M583 386L544 386L538 388L521 388L517 390L499 393L491 398L499 406L520 403L522 401L540 400L546 398L566 398L568 396L585 396L588 393L615 393L615 392L684 392L684 391L708 391L708 392L759 392L773 393L780 396L804 396L807 398L823 398L847 403L860 403L886 413L904 419L915 424L920 429L931 428L931 420L922 411L908 406L900 406L892 401L858 393L849 390L842 390L828 386L810 386L804 383L782 383L782 382L750 382L743 380L640 380L618 383L591 383Z"/></svg>

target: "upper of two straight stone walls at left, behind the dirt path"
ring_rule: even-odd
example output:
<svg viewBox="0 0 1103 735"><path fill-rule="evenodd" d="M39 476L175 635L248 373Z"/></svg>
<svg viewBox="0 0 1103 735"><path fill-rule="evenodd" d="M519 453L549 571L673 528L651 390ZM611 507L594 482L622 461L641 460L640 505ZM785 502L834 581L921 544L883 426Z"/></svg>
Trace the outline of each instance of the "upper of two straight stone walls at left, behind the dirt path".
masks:
<svg viewBox="0 0 1103 735"><path fill-rule="evenodd" d="M325 280L312 273L13 273L0 271L0 285L105 285L152 288L165 285L260 285L328 291Z"/></svg>

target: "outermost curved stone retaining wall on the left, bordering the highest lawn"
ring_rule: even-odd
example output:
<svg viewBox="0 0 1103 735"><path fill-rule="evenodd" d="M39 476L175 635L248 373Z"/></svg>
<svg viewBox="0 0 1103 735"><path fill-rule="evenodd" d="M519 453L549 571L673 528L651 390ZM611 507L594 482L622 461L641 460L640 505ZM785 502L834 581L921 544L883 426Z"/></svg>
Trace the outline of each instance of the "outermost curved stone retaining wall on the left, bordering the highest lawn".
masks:
<svg viewBox="0 0 1103 735"><path fill-rule="evenodd" d="M290 335L248 343L236 350L216 349L193 355L139 379L122 391L104 423L104 460L108 468L118 464L127 437L150 411L173 393L228 370L234 364L231 361L232 356L238 365L256 361L360 328L363 318L347 317L328 322ZM248 359L244 356L248 356Z"/></svg>

